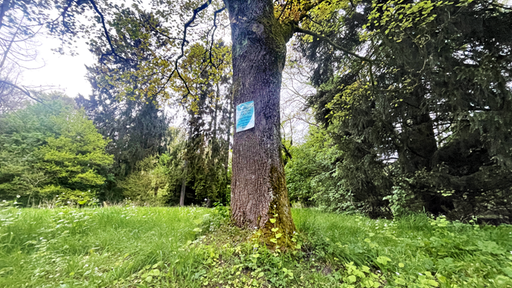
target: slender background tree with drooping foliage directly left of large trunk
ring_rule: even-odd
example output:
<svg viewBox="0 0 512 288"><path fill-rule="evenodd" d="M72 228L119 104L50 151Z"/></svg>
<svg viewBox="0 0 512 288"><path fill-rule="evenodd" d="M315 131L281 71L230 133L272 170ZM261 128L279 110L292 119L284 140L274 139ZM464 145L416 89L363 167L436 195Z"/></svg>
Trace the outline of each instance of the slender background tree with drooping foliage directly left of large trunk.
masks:
<svg viewBox="0 0 512 288"><path fill-rule="evenodd" d="M188 139L185 152L185 186L190 184L196 199L226 202L229 184L229 146L233 118L230 71L230 49L222 42L210 48L194 44L187 49L181 66L181 77L188 88L176 77L173 88L194 96L182 100L187 111ZM187 91L187 89L189 89ZM185 195L180 198L184 205Z"/></svg>

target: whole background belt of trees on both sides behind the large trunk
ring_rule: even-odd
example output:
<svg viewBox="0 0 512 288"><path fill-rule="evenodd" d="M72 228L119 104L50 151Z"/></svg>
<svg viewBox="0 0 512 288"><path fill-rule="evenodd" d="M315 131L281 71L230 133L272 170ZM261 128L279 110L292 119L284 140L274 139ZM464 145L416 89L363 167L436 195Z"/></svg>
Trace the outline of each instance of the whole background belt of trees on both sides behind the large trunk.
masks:
<svg viewBox="0 0 512 288"><path fill-rule="evenodd" d="M110 38L89 41L98 60L88 67L92 95L20 92L6 84L14 72L2 62L0 199L228 205L230 45L199 37L173 62L164 53L180 47L164 25L170 19L108 5ZM289 45L282 91L292 204L510 223L510 13L480 0L334 1L312 10L305 25L314 34ZM7 19L24 27L18 20ZM180 73L162 77L172 68Z"/></svg>

